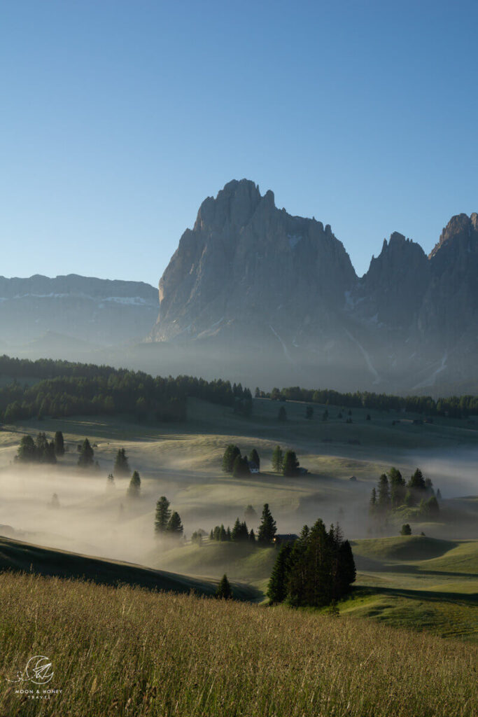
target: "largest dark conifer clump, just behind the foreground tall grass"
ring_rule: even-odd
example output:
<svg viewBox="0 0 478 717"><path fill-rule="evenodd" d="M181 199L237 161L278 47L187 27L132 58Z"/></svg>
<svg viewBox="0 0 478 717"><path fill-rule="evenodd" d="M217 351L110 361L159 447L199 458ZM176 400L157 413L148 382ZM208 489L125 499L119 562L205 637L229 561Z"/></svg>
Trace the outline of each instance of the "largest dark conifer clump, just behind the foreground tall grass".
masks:
<svg viewBox="0 0 478 717"><path fill-rule="evenodd" d="M350 592L355 581L350 543L339 526L327 531L318 520L304 526L294 543L282 543L267 588L270 602L295 607L324 607Z"/></svg>

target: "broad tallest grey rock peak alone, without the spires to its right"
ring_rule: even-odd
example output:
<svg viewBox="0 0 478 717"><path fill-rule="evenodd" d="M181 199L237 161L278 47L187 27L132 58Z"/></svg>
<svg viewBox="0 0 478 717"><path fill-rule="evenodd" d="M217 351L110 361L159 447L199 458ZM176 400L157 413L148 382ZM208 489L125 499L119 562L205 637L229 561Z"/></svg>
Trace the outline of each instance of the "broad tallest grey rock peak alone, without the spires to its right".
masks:
<svg viewBox="0 0 478 717"><path fill-rule="evenodd" d="M232 323L298 341L335 312L356 280L329 226L292 217L252 182L231 181L199 209L159 284L155 340L198 338Z"/></svg>

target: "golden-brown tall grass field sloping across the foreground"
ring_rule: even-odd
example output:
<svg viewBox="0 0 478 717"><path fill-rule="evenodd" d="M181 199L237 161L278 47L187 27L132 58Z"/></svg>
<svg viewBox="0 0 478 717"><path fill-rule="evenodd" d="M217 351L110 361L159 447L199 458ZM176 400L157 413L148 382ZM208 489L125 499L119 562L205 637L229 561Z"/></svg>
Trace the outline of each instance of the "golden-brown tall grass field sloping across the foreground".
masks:
<svg viewBox="0 0 478 717"><path fill-rule="evenodd" d="M0 599L2 716L478 713L478 647L459 641L32 574L0 574ZM32 655L52 662L47 688L62 691L49 700L19 695L6 681Z"/></svg>

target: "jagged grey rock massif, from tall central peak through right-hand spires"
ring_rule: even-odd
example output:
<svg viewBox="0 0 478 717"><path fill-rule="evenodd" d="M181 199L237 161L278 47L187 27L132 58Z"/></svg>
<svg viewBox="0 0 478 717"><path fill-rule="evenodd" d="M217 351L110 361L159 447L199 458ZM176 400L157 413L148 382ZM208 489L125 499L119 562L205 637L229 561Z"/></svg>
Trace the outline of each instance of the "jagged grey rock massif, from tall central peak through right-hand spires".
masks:
<svg viewBox="0 0 478 717"><path fill-rule="evenodd" d="M358 278L329 225L231 181L181 237L150 340L282 356L310 385L425 390L476 380L477 278L477 214L452 217L429 257L394 232Z"/></svg>

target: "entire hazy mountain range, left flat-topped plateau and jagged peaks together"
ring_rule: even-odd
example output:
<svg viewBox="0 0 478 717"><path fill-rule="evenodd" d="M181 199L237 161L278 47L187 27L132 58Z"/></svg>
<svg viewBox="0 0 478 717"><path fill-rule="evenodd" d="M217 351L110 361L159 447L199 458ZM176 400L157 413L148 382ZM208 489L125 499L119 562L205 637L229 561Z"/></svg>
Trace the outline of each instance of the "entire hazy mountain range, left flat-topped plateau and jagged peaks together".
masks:
<svg viewBox="0 0 478 717"><path fill-rule="evenodd" d="M478 389L478 215L427 257L394 232L358 277L330 226L231 181L199 209L159 282L0 278L0 348L248 386Z"/></svg>

